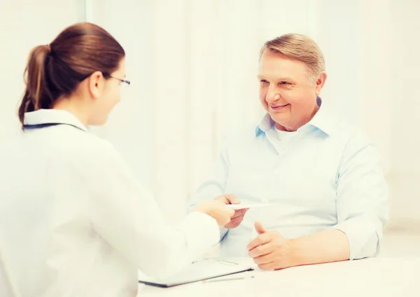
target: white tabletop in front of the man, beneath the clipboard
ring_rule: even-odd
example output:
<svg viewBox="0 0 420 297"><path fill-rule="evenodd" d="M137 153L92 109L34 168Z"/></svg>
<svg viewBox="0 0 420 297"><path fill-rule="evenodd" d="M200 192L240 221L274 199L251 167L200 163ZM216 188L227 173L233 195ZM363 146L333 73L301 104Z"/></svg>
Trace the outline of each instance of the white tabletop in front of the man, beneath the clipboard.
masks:
<svg viewBox="0 0 420 297"><path fill-rule="evenodd" d="M249 258L228 260L255 266ZM172 288L139 284L138 296L420 296L420 258L368 258L276 271L255 268L235 277L239 275L244 279Z"/></svg>

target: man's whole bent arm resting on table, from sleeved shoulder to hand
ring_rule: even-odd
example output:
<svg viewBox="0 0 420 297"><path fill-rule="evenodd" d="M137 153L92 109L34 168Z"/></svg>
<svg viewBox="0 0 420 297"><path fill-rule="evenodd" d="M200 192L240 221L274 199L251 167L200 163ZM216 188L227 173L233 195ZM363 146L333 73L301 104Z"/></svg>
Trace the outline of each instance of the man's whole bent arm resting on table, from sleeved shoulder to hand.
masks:
<svg viewBox="0 0 420 297"><path fill-rule="evenodd" d="M249 255L266 270L376 256L386 221L388 188L379 153L364 139L350 139L337 177L337 225L286 240L257 223L260 235L248 244Z"/></svg>

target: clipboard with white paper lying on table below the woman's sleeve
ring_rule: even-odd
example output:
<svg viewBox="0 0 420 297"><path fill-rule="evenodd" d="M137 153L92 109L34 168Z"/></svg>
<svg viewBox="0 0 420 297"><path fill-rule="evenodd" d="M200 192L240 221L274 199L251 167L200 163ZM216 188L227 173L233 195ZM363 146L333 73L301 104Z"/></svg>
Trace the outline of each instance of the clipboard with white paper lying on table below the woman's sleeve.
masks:
<svg viewBox="0 0 420 297"><path fill-rule="evenodd" d="M159 286L169 288L181 284L190 284L192 282L201 282L206 279L223 277L226 275L235 275L237 273L253 270L250 266L239 265L230 261L218 261L215 259L204 258L195 261L181 270L178 274L167 279L155 280L145 276L139 277L139 283L148 286Z"/></svg>

